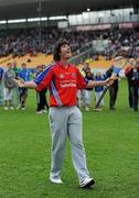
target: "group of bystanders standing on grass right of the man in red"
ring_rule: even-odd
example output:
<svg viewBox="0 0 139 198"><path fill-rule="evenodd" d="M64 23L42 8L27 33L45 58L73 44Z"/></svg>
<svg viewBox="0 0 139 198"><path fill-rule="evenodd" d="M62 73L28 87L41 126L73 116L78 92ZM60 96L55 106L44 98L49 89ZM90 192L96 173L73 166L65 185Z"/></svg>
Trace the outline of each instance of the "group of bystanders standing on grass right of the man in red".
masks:
<svg viewBox="0 0 139 198"><path fill-rule="evenodd" d="M88 64L85 64L81 73L87 79L105 80L106 78L109 78L111 76L113 70L114 70L114 65L111 65L105 72L105 74L103 74L99 70L96 74L93 74ZM138 100L139 100L139 62L138 61L130 58L129 66L125 69L125 76L127 77L127 82L128 82L129 108L133 111L138 111ZM116 109L116 100L117 100L118 89L119 89L119 79L116 79L114 84L109 87L109 110ZM103 91L104 91L103 86L97 86L95 88L95 105L99 100L99 97L101 96ZM78 91L78 97L77 97L78 106L84 107L86 111L89 111L90 101L92 101L92 92L93 92L93 89L85 89L85 90ZM104 103L104 98L103 98L99 107L94 110L101 111L105 103Z"/></svg>

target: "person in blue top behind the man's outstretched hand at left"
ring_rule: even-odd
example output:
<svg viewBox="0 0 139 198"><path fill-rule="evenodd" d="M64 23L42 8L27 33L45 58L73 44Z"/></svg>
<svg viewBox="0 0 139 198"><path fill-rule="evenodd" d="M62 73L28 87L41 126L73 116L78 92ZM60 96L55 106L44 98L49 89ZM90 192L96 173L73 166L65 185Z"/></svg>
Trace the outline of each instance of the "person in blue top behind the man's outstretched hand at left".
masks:
<svg viewBox="0 0 139 198"><path fill-rule="evenodd" d="M26 64L23 63L21 65L21 70L18 74L18 79L22 79L23 81L30 80L31 72L26 68ZM19 88L19 106L18 109L24 110L25 109L25 101L28 97L28 88Z"/></svg>

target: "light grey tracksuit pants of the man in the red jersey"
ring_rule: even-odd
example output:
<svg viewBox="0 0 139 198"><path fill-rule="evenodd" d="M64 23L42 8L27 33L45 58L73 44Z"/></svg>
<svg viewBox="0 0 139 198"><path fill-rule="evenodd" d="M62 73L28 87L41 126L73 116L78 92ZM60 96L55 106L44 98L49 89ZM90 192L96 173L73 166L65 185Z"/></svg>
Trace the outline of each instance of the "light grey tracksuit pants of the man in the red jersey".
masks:
<svg viewBox="0 0 139 198"><path fill-rule="evenodd" d="M66 139L71 141L72 161L79 183L88 177L86 155L82 140L82 113L74 107L51 107L50 127L52 136L51 177L57 177L62 169Z"/></svg>

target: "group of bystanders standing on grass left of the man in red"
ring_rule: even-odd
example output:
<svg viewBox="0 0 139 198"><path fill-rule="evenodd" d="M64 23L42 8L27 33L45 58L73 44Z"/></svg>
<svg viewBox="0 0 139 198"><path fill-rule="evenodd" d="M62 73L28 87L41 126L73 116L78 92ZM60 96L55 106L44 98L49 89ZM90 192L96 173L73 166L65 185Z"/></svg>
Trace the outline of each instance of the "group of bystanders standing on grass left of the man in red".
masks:
<svg viewBox="0 0 139 198"><path fill-rule="evenodd" d="M35 69L29 69L25 63L22 63L21 68L18 68L15 63L8 63L4 69L0 67L0 106L3 106L4 110L25 110L28 89L17 87L14 79L29 81L43 69L43 65ZM36 113L47 112L49 110L46 91L46 89L41 92L36 91Z"/></svg>

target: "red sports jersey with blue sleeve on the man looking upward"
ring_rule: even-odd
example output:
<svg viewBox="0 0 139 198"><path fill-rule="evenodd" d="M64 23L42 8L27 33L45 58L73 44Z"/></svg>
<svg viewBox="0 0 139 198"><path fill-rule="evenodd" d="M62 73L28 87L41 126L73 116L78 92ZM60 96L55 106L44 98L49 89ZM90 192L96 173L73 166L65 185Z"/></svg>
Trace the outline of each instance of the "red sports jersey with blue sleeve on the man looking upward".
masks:
<svg viewBox="0 0 139 198"><path fill-rule="evenodd" d="M41 76L39 78L42 79ZM34 81L38 91L49 88L51 107L76 106L77 89L85 88L87 84L78 68L71 64L65 68L60 62L47 68L41 81Z"/></svg>

